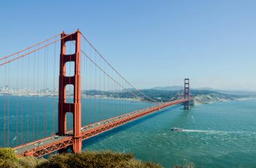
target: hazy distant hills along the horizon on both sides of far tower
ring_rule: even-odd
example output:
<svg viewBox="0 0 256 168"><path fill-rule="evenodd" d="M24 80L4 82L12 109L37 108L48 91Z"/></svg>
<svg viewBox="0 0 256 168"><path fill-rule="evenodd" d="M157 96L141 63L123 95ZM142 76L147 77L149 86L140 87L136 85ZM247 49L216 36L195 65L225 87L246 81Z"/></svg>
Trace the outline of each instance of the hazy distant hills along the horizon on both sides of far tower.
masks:
<svg viewBox="0 0 256 168"><path fill-rule="evenodd" d="M161 101L166 102L169 100L174 100L180 95L184 90L184 87L173 86L173 87L154 87L151 89L140 89L140 92L135 89L125 89L122 91L99 91L99 90L83 90L83 97L109 97L109 98L131 98L138 99L138 97L143 97L143 100L148 101ZM141 94L142 92L142 94ZM256 95L241 94L236 92L224 92L217 89L211 89L208 87L191 89L192 97L195 97L196 104L202 103L213 103L219 101L236 100L244 97L256 97ZM137 95L137 96L136 96Z"/></svg>

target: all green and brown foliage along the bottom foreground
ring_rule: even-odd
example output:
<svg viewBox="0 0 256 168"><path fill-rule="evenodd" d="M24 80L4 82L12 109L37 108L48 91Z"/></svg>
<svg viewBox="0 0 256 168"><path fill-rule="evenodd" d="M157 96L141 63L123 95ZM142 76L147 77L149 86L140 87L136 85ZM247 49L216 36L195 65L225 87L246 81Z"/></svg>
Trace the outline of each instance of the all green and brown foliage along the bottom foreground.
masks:
<svg viewBox="0 0 256 168"><path fill-rule="evenodd" d="M18 158L11 148L0 148L0 167L26 167L26 168L48 168L48 167L162 167L159 164L143 162L135 159L132 153L81 152L77 154L64 153L55 154L49 159L36 159L28 156Z"/></svg>

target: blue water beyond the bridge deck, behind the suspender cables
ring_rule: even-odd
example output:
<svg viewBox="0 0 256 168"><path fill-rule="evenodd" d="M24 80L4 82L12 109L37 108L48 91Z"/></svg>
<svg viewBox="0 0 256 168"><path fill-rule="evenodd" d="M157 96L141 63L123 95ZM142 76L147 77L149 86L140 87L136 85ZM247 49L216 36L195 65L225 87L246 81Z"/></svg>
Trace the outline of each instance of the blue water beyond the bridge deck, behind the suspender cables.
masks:
<svg viewBox="0 0 256 168"><path fill-rule="evenodd" d="M82 126L151 105L154 104L135 100L83 98ZM72 129L72 119L72 114L67 113L68 130ZM58 97L0 95L0 147L14 147L49 137L56 132Z"/></svg>

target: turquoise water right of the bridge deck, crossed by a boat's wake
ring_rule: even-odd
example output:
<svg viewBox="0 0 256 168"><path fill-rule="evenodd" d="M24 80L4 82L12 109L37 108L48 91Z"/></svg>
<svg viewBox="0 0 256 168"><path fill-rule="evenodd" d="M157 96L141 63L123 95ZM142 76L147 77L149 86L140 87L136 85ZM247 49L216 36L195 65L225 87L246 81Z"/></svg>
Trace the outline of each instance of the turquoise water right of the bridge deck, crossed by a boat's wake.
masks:
<svg viewBox="0 0 256 168"><path fill-rule="evenodd" d="M167 108L86 140L83 151L132 152L164 167L256 167L255 99L181 108Z"/></svg>

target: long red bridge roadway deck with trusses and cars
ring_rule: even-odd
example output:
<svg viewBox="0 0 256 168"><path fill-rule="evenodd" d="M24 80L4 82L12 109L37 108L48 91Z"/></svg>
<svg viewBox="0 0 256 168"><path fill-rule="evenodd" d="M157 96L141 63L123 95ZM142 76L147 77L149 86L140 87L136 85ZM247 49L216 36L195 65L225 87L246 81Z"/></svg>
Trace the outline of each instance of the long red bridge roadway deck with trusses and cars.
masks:
<svg viewBox="0 0 256 168"><path fill-rule="evenodd" d="M102 132L106 132L115 127L119 127L123 124L127 124L129 121L134 121L140 117L146 116L149 113L154 113L161 110L162 108L167 108L172 105L177 105L189 101L188 99L174 100L167 103L160 103L148 108L143 108L139 111L134 111L131 113L126 113L121 116L116 116L111 119L106 119L104 121L99 121L94 124L90 124L86 127L81 128L81 138L86 140L89 137L99 135ZM67 148L73 144L72 131L67 132L66 136L59 136L54 138L55 135L51 137L46 137L42 140L37 140L31 143L26 143L15 147L15 152L19 156L36 156L41 157L54 151L58 151L62 148Z"/></svg>

